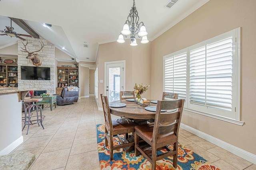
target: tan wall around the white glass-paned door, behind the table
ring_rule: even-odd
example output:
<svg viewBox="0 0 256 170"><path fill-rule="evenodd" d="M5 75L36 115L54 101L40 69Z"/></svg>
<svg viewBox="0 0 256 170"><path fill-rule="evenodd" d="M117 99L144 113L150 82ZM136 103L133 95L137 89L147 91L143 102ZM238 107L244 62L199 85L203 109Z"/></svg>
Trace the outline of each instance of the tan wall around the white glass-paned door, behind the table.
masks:
<svg viewBox="0 0 256 170"><path fill-rule="evenodd" d="M137 41L138 42L138 41ZM151 82L151 43L140 44L132 47L129 40L120 44L117 42L99 45L96 66L98 64L98 80L104 80L104 64L108 61L126 61L125 90L132 91L136 83ZM104 82L98 84L99 107L102 107L100 94L104 94ZM143 94L143 97L150 98L150 92Z"/></svg>

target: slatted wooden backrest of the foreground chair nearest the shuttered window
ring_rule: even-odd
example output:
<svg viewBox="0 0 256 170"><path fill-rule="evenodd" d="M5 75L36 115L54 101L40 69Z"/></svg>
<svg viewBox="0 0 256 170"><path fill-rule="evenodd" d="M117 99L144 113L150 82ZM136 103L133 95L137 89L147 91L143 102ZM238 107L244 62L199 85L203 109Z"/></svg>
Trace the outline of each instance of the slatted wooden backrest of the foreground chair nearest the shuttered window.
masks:
<svg viewBox="0 0 256 170"><path fill-rule="evenodd" d="M157 140L158 135L174 132L178 135L180 118L184 106L184 99L158 100L156 106L156 116L153 129L153 141ZM172 112L161 112L161 110L176 109Z"/></svg>

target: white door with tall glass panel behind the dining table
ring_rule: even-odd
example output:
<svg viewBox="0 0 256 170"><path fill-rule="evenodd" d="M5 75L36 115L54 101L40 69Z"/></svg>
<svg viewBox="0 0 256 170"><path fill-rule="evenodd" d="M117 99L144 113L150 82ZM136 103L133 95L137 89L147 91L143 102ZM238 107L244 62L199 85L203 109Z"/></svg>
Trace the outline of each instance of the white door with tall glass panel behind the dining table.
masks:
<svg viewBox="0 0 256 170"><path fill-rule="evenodd" d="M124 90L124 61L106 62L105 66L108 100L120 100L120 91Z"/></svg>

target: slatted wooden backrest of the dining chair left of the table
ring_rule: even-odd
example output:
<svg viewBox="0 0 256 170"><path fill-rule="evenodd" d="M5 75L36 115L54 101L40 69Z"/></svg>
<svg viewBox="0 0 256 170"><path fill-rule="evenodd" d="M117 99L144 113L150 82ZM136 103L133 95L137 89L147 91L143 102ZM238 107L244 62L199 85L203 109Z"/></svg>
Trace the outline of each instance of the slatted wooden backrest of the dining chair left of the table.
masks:
<svg viewBox="0 0 256 170"><path fill-rule="evenodd" d="M100 94L100 96L101 96L101 101L102 101L105 122L107 122L107 124L105 123L105 125L109 131L112 128L112 119L111 119L111 115L110 115L110 108L108 105L108 96L104 96L103 94Z"/></svg>

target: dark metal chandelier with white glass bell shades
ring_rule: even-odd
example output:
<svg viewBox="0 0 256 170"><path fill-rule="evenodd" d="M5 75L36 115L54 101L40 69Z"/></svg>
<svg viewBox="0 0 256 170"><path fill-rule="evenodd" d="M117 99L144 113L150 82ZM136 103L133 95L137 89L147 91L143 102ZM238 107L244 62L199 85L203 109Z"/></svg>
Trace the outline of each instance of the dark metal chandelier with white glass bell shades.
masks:
<svg viewBox="0 0 256 170"><path fill-rule="evenodd" d="M136 43L136 34L138 34L138 37L142 37L142 40L140 43L146 44L148 43L148 32L146 31L146 27L143 22L140 22L140 17L138 16L138 11L135 6L135 2L133 0L133 6L130 10L130 14L127 17L127 20L124 23L123 30L119 34L118 39L116 40L118 43L124 43L124 36L127 37L127 35L130 35L131 38L131 46L137 46Z"/></svg>

